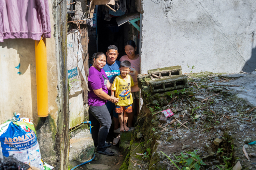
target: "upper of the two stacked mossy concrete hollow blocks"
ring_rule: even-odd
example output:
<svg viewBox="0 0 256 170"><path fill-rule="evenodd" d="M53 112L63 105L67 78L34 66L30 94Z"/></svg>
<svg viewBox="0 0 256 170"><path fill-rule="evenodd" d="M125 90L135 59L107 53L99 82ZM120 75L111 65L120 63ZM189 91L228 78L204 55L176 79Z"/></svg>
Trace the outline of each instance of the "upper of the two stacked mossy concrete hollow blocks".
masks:
<svg viewBox="0 0 256 170"><path fill-rule="evenodd" d="M159 79L154 77L152 74L159 76L160 78L171 77L173 75L182 75L181 66L171 66L164 68L157 68L153 70L148 70L147 73L150 75L151 80Z"/></svg>

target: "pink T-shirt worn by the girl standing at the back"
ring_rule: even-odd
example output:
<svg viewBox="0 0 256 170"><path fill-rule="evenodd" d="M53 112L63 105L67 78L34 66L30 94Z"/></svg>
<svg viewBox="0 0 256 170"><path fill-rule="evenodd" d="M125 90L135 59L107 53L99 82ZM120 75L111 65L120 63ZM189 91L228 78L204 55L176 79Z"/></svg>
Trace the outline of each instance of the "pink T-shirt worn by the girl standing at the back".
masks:
<svg viewBox="0 0 256 170"><path fill-rule="evenodd" d="M128 58L127 55L124 55L120 58L119 61L122 62L124 60L128 60L129 62L131 62L131 71L129 72L129 75L131 75L134 82L137 82L137 75L140 74L140 56L135 60L131 60ZM136 86L131 87L131 92L134 91L140 91L138 84Z"/></svg>

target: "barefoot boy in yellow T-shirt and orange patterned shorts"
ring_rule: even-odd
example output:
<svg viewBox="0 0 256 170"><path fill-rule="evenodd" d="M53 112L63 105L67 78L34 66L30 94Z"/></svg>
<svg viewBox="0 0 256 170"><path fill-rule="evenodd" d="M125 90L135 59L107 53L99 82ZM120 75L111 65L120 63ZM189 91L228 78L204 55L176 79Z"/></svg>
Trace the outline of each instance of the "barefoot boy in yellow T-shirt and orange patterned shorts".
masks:
<svg viewBox="0 0 256 170"><path fill-rule="evenodd" d="M133 115L128 114L132 113L131 104L133 103L133 100L131 95L131 87L137 85L138 82L134 83L132 77L128 74L131 70L130 68L131 63L129 61L122 61L119 68L121 74L115 78L111 87L111 96L119 98L119 102L117 102L115 105L115 112L118 113L120 132L129 131L128 127L132 126Z"/></svg>

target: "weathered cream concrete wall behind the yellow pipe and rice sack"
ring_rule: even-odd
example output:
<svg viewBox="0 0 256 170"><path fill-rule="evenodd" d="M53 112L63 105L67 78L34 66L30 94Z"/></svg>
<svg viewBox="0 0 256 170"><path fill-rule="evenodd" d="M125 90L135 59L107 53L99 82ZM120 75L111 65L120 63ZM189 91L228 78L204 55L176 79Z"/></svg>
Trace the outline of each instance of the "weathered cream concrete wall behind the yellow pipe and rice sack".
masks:
<svg viewBox="0 0 256 170"><path fill-rule="evenodd" d="M37 116L34 40L5 39L0 43L0 123L11 119L13 112L31 119L43 160L64 170L69 160L66 0L48 2L52 29L51 38L46 39L49 116Z"/></svg>

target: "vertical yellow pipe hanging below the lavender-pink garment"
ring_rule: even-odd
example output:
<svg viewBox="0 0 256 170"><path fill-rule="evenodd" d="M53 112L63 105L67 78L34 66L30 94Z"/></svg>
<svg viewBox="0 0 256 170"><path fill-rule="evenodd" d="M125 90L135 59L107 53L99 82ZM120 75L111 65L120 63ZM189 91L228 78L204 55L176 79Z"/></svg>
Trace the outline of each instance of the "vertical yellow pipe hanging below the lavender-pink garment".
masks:
<svg viewBox="0 0 256 170"><path fill-rule="evenodd" d="M35 40L35 69L37 74L37 115L48 116L48 86L46 40Z"/></svg>

